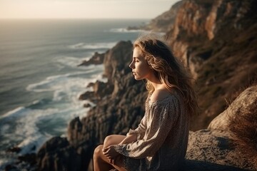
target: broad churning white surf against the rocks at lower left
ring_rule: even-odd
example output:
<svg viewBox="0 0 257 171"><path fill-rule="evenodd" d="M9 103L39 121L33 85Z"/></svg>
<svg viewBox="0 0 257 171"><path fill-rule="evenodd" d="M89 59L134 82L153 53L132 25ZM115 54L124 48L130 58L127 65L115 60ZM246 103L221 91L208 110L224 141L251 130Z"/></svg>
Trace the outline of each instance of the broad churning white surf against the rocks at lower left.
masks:
<svg viewBox="0 0 257 171"><path fill-rule="evenodd" d="M43 142L51 138L51 132L57 131L64 135L66 126L59 123L66 125L72 118L86 115L89 108L84 108L84 103L90 102L78 100L78 96L86 90L91 90L86 88L88 83L96 80L106 81L106 78L102 78L103 70L102 65L88 66L83 71L49 76L39 83L27 86L26 90L34 92L53 91L53 97L48 103L44 103L44 100L34 100L31 105L1 115L0 121L5 123L0 126L1 135L9 142L17 143L22 149L21 154L38 150ZM44 108L41 108L42 104ZM6 122L8 120L9 122ZM42 122L47 122L47 125ZM44 127L41 128L40 125Z"/></svg>

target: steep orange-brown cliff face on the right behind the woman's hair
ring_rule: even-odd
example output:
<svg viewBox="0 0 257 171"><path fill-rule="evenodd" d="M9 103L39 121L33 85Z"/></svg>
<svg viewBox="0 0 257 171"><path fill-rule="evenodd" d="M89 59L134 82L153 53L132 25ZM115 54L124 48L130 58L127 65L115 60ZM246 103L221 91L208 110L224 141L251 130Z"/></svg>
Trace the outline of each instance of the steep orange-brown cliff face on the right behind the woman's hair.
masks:
<svg viewBox="0 0 257 171"><path fill-rule="evenodd" d="M256 8L252 0L188 0L178 9L166 36L196 79L201 111L192 130L206 128L256 78Z"/></svg>

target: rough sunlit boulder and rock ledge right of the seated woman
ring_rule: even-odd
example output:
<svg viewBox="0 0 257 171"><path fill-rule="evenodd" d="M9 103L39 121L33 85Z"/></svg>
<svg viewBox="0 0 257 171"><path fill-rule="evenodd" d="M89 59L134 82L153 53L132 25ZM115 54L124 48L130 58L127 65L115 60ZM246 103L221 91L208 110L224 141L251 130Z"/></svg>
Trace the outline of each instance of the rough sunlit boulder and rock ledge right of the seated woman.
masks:
<svg viewBox="0 0 257 171"><path fill-rule="evenodd" d="M256 113L257 86L251 86L208 129L190 132L184 170L256 170ZM245 118L252 120L246 125Z"/></svg>

